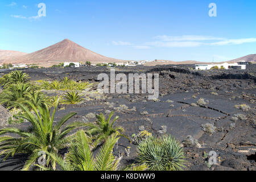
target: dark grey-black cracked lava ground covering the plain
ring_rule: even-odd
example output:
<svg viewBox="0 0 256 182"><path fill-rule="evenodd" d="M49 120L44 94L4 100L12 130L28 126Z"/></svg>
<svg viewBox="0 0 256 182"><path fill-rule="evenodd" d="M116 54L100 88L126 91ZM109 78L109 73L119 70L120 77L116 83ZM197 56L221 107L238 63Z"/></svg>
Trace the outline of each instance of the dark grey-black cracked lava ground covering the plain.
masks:
<svg viewBox="0 0 256 182"><path fill-rule="evenodd" d="M246 71L193 71L190 67L192 65L116 68L116 73L159 73L159 100L147 100L147 94L106 94L80 105L59 106L65 109L56 113L56 121L75 111L76 117L69 122L94 122L85 115L114 110L120 117L115 125L123 126L129 137L139 129L154 135L171 134L180 142L191 136L192 142L183 142L188 161L185 170L256 170L255 65ZM60 80L67 76L76 81L97 82L98 74L109 73L109 68L46 68L24 72L32 80ZM196 106L200 98L207 104ZM250 106L250 110L235 107L242 104ZM206 123L214 127L212 134L203 130L202 125ZM27 126L28 123L19 125ZM131 146L129 156L125 151L128 146ZM209 151L217 153L217 164L213 166L207 165L205 154ZM123 154L122 164L129 164L134 161L136 146L121 138L114 154ZM23 158L20 161L23 162ZM11 164L0 162L0 170L17 169L15 163Z"/></svg>

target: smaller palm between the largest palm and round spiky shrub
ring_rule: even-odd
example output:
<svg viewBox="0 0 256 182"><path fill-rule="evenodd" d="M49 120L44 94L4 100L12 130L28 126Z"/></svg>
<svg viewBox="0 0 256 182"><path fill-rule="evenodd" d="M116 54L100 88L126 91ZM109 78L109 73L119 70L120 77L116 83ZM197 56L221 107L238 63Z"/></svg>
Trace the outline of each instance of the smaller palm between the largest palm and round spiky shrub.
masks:
<svg viewBox="0 0 256 182"><path fill-rule="evenodd" d="M111 118L113 117L114 112L112 111L109 114L108 119L105 118L104 114L96 115L97 121L96 123L86 123L86 126L89 127L88 132L93 136L94 140L94 146L98 146L98 144L101 144L104 142L110 135L117 134L119 137L125 137L123 135L123 127L118 126L118 127L113 127L114 122L117 121L119 118L116 116L113 121L111 122ZM111 122L111 123L110 123ZM127 138L130 140L129 138Z"/></svg>

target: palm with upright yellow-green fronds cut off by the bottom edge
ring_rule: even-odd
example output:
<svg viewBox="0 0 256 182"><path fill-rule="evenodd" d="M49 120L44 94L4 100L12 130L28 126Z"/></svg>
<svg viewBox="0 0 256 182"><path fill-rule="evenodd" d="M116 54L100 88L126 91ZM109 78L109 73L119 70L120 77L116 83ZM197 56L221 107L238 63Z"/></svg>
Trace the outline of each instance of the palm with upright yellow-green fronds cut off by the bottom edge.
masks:
<svg viewBox="0 0 256 182"><path fill-rule="evenodd" d="M55 153L48 153L48 155L59 164L60 169L63 171L117 171L122 157L115 158L112 152L118 139L116 134L111 135L104 146L100 148L98 155L94 157L91 146L92 141L83 130L80 130L77 131L75 140L64 158ZM51 169L39 167L46 170ZM141 165L127 167L126 170L144 170L146 168L145 165Z"/></svg>

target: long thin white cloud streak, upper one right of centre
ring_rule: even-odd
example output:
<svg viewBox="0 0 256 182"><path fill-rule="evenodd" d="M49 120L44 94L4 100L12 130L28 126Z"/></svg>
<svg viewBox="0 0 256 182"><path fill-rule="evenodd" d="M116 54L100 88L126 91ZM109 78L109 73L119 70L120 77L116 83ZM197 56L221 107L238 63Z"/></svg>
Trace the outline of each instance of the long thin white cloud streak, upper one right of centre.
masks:
<svg viewBox="0 0 256 182"><path fill-rule="evenodd" d="M155 36L154 39L158 39L163 42L224 40L224 38L217 38L214 36L201 36L201 35L183 35L183 36L158 35L158 36Z"/></svg>

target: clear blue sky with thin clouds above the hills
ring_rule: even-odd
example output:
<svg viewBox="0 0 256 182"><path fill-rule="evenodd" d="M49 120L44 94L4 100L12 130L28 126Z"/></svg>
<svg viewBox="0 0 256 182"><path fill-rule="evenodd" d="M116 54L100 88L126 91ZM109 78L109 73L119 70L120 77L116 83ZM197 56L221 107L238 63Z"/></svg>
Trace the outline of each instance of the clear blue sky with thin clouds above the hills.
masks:
<svg viewBox="0 0 256 182"><path fill-rule="evenodd" d="M39 3L46 16L38 17ZM0 49L30 53L70 39L123 60L230 60L256 53L255 7L255 0L1 0Z"/></svg>

